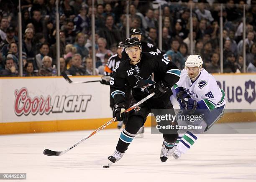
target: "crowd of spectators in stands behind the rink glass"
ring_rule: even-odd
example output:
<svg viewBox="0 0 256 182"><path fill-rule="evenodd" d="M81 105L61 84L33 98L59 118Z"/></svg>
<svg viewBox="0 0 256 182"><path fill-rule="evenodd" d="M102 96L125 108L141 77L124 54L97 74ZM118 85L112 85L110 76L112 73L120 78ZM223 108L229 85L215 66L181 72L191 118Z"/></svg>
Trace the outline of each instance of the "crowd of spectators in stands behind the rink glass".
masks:
<svg viewBox="0 0 256 182"><path fill-rule="evenodd" d="M18 1L0 1L0 76L56 76L56 35L60 35L60 69L92 75L92 12L95 13L96 73L103 74L116 44L126 38L126 0L22 0L22 61L18 56ZM162 52L180 69L190 50L190 6L193 50L210 73L220 73L220 3L223 4L224 73L243 72L243 5L246 6L246 71L256 72L256 0L169 0L162 7ZM158 45L159 9L153 1L130 0L130 28ZM143 50L142 50L143 51Z"/></svg>

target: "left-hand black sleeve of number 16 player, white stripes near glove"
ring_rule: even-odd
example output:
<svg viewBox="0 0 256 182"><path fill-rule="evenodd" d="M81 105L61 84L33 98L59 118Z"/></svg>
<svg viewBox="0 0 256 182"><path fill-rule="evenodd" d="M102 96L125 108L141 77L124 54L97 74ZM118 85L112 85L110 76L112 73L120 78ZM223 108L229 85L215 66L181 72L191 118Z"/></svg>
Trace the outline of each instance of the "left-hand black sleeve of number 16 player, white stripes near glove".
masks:
<svg viewBox="0 0 256 182"><path fill-rule="evenodd" d="M115 104L125 103L125 83L127 83L125 75L122 74L122 68L116 66L110 78L110 93Z"/></svg>

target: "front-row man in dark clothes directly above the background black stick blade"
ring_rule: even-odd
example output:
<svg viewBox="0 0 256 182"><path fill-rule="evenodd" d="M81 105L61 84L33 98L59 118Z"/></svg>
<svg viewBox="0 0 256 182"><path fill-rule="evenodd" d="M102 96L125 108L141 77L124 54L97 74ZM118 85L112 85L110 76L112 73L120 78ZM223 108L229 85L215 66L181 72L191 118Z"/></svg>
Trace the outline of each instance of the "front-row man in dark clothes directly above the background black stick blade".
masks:
<svg viewBox="0 0 256 182"><path fill-rule="evenodd" d="M88 75L86 69L82 66L82 58L80 54L74 54L72 57L72 66L67 70L67 74Z"/></svg>

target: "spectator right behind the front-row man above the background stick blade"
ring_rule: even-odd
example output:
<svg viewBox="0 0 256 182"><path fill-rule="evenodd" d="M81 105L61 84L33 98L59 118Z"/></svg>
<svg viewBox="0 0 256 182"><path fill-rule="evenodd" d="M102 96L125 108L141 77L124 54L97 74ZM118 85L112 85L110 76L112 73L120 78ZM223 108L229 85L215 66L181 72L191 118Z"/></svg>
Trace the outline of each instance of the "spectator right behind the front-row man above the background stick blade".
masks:
<svg viewBox="0 0 256 182"><path fill-rule="evenodd" d="M77 48L77 53L79 53L82 58L88 57L88 50L85 48L85 35L83 33L78 33L76 37L76 42L74 43L74 47Z"/></svg>

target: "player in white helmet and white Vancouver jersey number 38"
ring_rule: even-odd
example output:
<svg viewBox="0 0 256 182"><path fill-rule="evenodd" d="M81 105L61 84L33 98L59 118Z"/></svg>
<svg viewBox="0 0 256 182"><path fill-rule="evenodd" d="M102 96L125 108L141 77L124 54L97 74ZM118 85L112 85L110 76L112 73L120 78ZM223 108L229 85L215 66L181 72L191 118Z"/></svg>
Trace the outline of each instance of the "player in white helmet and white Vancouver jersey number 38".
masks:
<svg viewBox="0 0 256 182"><path fill-rule="evenodd" d="M175 159L187 152L201 134L220 119L225 109L225 92L219 88L215 78L202 68L202 58L190 55L185 68L181 71L179 81L174 85L181 110L187 115L201 114L202 120L187 122L187 125L202 126L202 129L185 130L179 134L177 148L172 153ZM178 121L179 125L184 122Z"/></svg>

